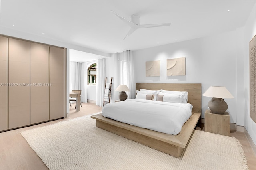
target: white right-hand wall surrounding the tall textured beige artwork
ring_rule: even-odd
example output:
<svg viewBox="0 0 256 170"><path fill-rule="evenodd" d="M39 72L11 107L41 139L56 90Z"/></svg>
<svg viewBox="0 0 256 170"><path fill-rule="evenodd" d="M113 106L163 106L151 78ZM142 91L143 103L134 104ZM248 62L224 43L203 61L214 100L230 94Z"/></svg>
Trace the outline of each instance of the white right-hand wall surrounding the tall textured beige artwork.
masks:
<svg viewBox="0 0 256 170"><path fill-rule="evenodd" d="M245 128L256 145L256 123L250 118L249 42L256 35L256 11L254 8L244 26L244 117Z"/></svg>

